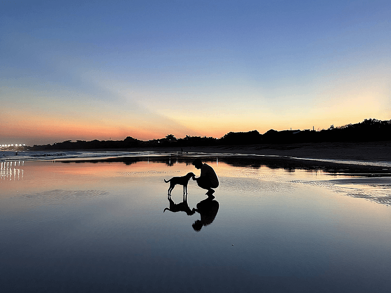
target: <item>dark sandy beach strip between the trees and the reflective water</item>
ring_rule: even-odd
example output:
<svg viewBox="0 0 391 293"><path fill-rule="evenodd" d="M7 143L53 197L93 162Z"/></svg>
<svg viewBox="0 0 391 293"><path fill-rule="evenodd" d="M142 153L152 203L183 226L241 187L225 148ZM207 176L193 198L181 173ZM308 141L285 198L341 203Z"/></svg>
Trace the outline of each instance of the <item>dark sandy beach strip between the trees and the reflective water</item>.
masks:
<svg viewBox="0 0 391 293"><path fill-rule="evenodd" d="M183 157L215 156L227 154L230 157L242 157L264 162L282 168L319 168L327 170L352 170L354 173L387 173L391 172L391 141L381 142L327 142L298 144L262 144L262 145L225 145L197 147L156 147L126 149L91 149L91 150L43 150L42 152L156 152L179 154ZM35 151L32 151L35 152ZM16 159L16 158L15 158ZM55 158L47 158L53 160ZM60 159L60 158L56 158ZM92 158L91 158L92 159ZM98 159L98 158L95 158ZM63 159L74 160L74 159ZM79 160L89 160L79 158ZM239 160L240 161L240 160ZM371 164L373 162L373 164ZM376 166L377 165L377 166Z"/></svg>

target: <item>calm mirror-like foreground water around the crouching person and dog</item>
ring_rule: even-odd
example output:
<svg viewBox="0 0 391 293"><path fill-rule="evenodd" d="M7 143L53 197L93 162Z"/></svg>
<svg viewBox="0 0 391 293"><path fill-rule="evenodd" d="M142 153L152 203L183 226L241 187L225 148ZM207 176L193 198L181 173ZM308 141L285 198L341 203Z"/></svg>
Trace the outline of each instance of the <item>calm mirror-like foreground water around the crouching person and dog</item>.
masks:
<svg viewBox="0 0 391 293"><path fill-rule="evenodd" d="M3 162L1 292L390 291L390 177L210 157L170 206L193 159Z"/></svg>

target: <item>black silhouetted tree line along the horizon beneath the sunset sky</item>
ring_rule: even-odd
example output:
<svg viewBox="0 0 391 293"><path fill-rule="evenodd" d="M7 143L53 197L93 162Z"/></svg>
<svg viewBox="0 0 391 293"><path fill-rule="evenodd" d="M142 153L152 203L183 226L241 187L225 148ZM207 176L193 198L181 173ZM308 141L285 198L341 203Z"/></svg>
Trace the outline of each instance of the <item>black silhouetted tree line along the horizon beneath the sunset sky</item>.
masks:
<svg viewBox="0 0 391 293"><path fill-rule="evenodd" d="M347 124L320 131L304 130L268 130L264 134L257 130L248 132L229 132L221 138L189 136L176 138L168 134L164 138L148 141L128 136L124 140L65 140L52 145L34 145L32 150L82 150L82 149L126 149L134 147L192 147L250 144L290 144L303 142L368 142L391 140L391 120L365 119L356 124Z"/></svg>

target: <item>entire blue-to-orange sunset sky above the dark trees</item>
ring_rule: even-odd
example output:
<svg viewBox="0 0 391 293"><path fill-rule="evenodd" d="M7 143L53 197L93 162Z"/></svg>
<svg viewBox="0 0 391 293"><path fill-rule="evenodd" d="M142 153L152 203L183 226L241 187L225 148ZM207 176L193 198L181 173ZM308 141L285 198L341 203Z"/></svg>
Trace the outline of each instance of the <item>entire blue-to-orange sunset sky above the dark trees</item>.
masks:
<svg viewBox="0 0 391 293"><path fill-rule="evenodd" d="M0 144L391 119L391 1L0 1Z"/></svg>

